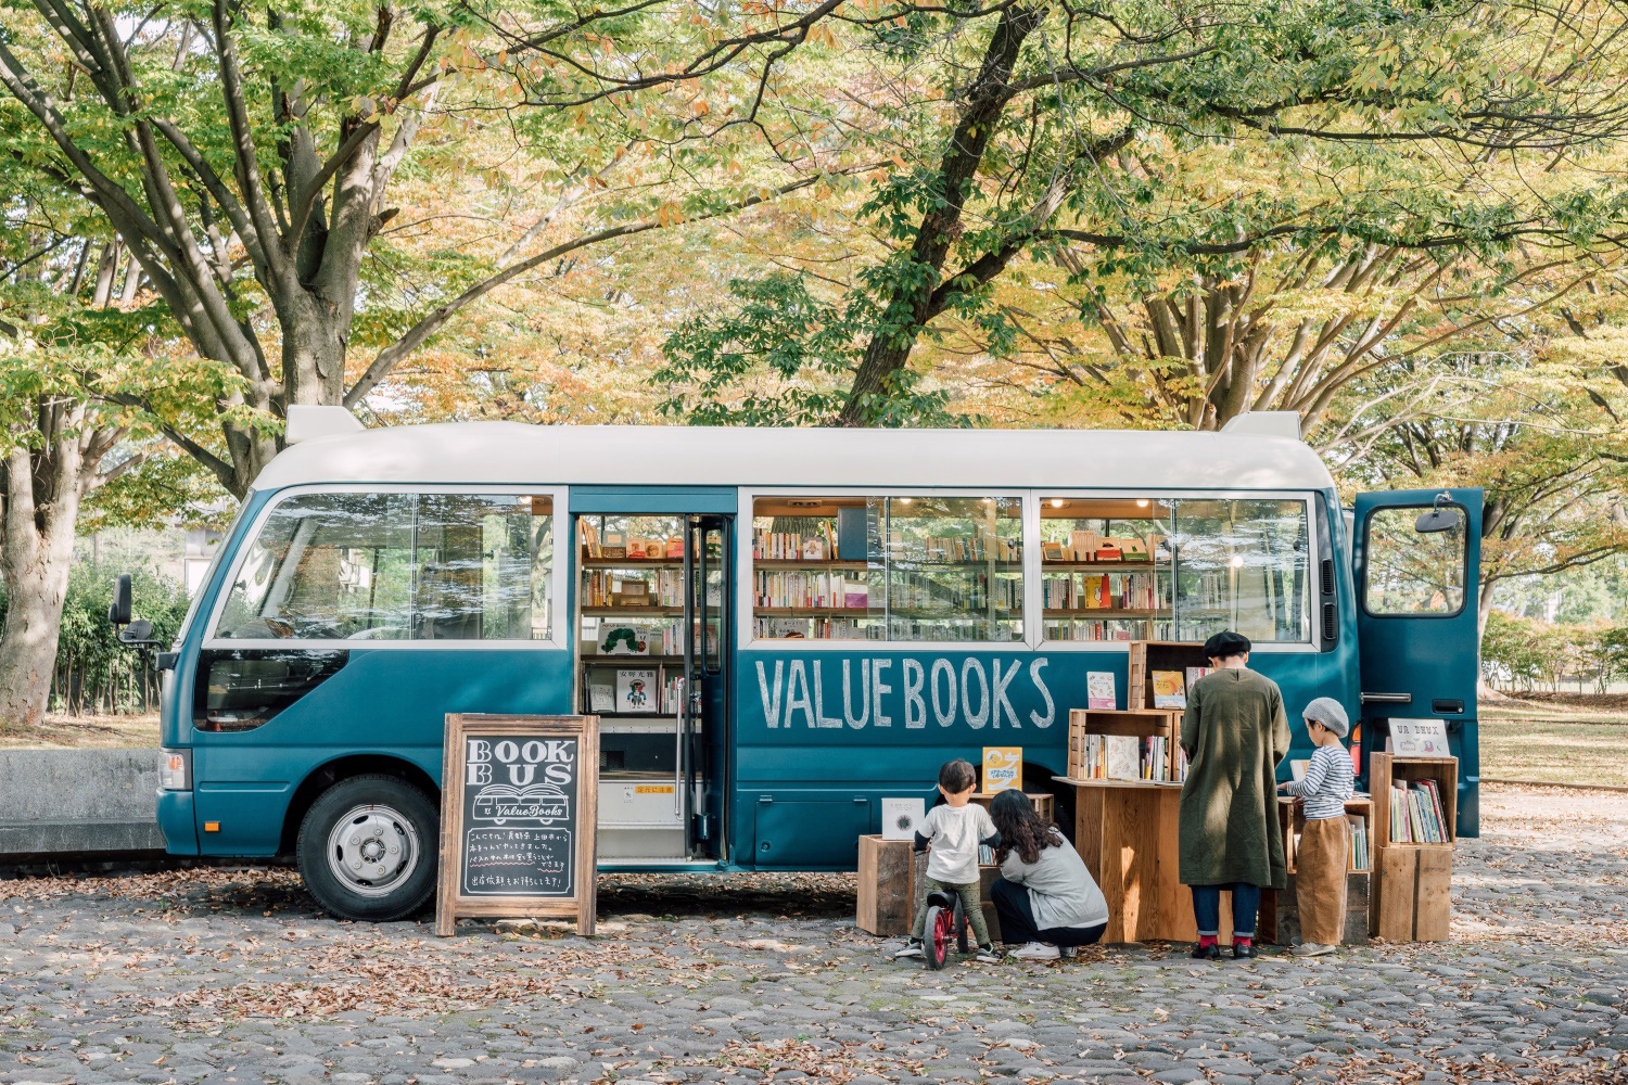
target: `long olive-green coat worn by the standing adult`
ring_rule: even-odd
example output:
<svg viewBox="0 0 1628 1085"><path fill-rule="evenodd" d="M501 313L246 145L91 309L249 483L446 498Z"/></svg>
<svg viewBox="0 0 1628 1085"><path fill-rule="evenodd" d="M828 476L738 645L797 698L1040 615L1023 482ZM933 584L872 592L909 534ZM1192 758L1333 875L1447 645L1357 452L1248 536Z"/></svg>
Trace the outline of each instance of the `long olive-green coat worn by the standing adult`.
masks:
<svg viewBox="0 0 1628 1085"><path fill-rule="evenodd" d="M1283 691L1247 667L1193 683L1182 719L1182 885L1242 882L1281 890L1278 761L1289 752Z"/></svg>

